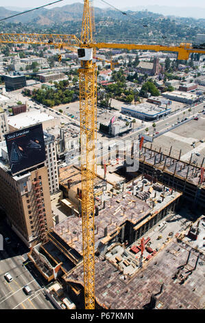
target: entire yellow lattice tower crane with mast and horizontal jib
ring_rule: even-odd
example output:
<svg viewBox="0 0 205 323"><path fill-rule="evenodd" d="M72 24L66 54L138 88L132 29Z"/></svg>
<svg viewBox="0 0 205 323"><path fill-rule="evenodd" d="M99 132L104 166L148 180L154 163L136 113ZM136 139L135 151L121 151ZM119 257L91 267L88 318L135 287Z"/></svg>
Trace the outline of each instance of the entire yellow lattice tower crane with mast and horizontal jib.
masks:
<svg viewBox="0 0 205 323"><path fill-rule="evenodd" d="M84 0L81 39L66 34L0 34L0 43L54 45L77 49L80 59L80 138L82 172L82 237L84 256L84 300L86 309L95 309L95 235L94 194L95 142L97 135L97 70L93 54L98 48L141 49L155 52L176 52L179 60L189 59L190 53L205 54L205 49L190 43L179 46L141 45L93 42L93 8ZM93 53L94 52L94 53Z"/></svg>

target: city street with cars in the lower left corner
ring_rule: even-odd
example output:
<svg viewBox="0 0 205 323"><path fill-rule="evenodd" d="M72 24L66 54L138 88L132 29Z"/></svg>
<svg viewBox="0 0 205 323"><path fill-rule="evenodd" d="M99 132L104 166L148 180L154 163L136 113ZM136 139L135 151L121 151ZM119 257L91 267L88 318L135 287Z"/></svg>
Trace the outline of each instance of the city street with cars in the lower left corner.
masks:
<svg viewBox="0 0 205 323"><path fill-rule="evenodd" d="M53 305L43 293L43 280L37 270L27 269L27 248L16 238L14 232L9 232L7 225L1 223L3 236L11 239L10 244L4 243L0 251L0 309L54 309ZM19 247L16 249L16 245ZM28 251L28 250L27 250ZM24 263L24 265L23 265ZM9 273L13 280L7 282L5 273ZM26 295L23 287L28 285L32 289L31 295Z"/></svg>

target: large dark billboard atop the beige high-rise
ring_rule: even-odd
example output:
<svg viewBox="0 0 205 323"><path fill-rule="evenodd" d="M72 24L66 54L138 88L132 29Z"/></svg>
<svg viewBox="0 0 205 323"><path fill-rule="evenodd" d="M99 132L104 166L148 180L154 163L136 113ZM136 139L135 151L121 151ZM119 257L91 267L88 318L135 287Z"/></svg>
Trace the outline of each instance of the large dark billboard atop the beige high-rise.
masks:
<svg viewBox="0 0 205 323"><path fill-rule="evenodd" d="M13 131L5 135L12 174L45 161L42 124Z"/></svg>

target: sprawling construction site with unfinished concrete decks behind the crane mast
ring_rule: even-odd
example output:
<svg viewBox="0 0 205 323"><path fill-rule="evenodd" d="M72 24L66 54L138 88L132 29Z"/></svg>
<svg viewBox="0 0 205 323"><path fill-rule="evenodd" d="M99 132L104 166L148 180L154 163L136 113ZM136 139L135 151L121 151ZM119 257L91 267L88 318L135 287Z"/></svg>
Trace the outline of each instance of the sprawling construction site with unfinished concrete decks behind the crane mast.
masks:
<svg viewBox="0 0 205 323"><path fill-rule="evenodd" d="M95 306L200 309L204 302L200 282L204 275L204 216L199 220L200 208L204 209L204 173L191 160L185 163L180 156L171 157L171 149L165 155L152 145L143 146L139 156L139 170L132 180L123 170L123 159L117 163L110 159L106 168L98 166L94 184ZM119 183L118 177L113 177L117 170L124 175L117 175ZM71 212L49 230L47 241L33 247L28 257L48 282L59 280L76 308L82 309L83 237L77 166L60 169L60 187L64 194L60 204ZM200 205L198 212L184 207L190 198ZM134 298L136 291L138 297Z"/></svg>

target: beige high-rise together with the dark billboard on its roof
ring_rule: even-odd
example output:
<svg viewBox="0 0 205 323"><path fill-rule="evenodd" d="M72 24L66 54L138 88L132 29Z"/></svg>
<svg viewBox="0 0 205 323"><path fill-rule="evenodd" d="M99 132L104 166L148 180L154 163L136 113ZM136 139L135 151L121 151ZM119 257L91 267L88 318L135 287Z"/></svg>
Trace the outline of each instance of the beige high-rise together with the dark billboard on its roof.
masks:
<svg viewBox="0 0 205 323"><path fill-rule="evenodd" d="M0 205L12 230L31 247L44 241L53 226L42 125L5 139L0 144Z"/></svg>

